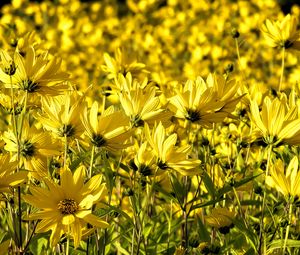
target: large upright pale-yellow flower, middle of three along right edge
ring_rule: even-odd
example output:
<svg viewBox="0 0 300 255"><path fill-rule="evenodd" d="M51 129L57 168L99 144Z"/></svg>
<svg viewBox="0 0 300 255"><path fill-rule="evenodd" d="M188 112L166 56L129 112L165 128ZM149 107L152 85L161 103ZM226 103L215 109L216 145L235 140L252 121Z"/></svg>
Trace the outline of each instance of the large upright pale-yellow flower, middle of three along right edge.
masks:
<svg viewBox="0 0 300 255"><path fill-rule="evenodd" d="M252 101L250 110L250 118L266 144L278 145L284 142L293 145L300 142L297 105L289 105L285 94L282 94L280 99L265 97L261 111L257 103Z"/></svg>

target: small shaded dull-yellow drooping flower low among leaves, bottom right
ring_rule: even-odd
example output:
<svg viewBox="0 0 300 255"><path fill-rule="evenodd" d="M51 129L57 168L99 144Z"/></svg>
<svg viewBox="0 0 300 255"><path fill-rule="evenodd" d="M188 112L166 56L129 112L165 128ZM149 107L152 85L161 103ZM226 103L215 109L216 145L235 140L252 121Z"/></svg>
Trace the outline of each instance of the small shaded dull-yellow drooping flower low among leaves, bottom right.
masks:
<svg viewBox="0 0 300 255"><path fill-rule="evenodd" d="M213 208L211 214L205 216L205 222L215 228L223 234L229 232L233 227L233 219L235 212L230 211L228 208Z"/></svg>

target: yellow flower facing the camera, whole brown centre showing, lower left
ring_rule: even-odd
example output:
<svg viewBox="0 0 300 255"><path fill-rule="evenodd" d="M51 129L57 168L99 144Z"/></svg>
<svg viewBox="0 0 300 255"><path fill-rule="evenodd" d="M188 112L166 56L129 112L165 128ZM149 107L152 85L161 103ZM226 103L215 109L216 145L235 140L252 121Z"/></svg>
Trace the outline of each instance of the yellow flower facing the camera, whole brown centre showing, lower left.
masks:
<svg viewBox="0 0 300 255"><path fill-rule="evenodd" d="M82 231L90 224L98 228L107 228L109 224L92 214L92 207L105 196L105 184L102 176L95 175L85 183L86 169L79 167L72 174L63 169L60 184L44 178L46 187L30 186L31 195L24 200L39 209L28 216L30 220L40 220L36 232L51 230L50 245L54 247L63 234L72 236L74 246L78 247Z"/></svg>

